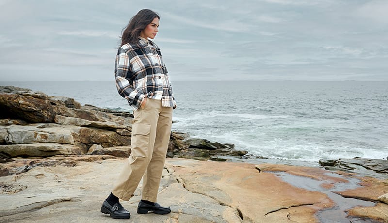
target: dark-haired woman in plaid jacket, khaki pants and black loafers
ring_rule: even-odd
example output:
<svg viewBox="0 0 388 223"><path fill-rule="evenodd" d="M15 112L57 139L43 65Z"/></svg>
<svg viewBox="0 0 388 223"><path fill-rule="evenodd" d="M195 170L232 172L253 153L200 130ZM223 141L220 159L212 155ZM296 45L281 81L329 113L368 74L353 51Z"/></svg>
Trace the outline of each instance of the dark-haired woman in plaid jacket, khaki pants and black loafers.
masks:
<svg viewBox="0 0 388 223"><path fill-rule="evenodd" d="M131 18L121 37L116 56L116 87L133 107L131 154L101 212L129 219L119 198L128 201L143 177L142 200L137 213L168 214L170 207L156 203L176 108L167 69L154 39L159 15L149 9Z"/></svg>

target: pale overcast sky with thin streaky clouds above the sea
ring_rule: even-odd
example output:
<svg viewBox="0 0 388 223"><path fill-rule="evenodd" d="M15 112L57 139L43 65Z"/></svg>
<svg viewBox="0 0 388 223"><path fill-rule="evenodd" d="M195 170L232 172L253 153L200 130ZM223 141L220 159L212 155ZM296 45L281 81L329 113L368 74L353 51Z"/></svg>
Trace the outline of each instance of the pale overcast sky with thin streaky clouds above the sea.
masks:
<svg viewBox="0 0 388 223"><path fill-rule="evenodd" d="M0 81L114 81L143 8L172 81L388 80L388 0L0 0Z"/></svg>

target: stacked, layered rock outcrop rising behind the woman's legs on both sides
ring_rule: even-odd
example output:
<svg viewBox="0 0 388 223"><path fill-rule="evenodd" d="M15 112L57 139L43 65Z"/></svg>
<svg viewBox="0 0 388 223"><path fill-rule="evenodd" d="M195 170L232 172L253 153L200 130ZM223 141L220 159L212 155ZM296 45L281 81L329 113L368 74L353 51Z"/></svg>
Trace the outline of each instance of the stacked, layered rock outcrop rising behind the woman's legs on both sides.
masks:
<svg viewBox="0 0 388 223"><path fill-rule="evenodd" d="M0 87L0 94L4 95L0 98L0 101L2 100L0 109L3 108L6 111L1 113L4 119L0 119L0 144L19 144L3 146L3 148L13 148L13 150L10 152L4 150L4 154L0 154L0 157L85 154L93 144L98 144L103 149L96 149L90 152L91 154L128 156L126 148L130 146L133 122L133 115L129 112L98 108L92 105L81 106L73 98L47 96L41 92L12 86ZM21 118L25 118L28 122ZM31 124L31 122L49 122L49 124ZM188 137L186 133L172 132L167 156L186 158L193 156L194 159L210 159L209 155L241 158L247 153L234 150L233 144L213 143ZM41 144L35 145L39 147L38 150L31 151L34 143ZM53 147L52 144L42 143L59 143L64 146ZM23 147L22 144L25 146ZM121 146L127 147L123 149ZM71 151L66 152L69 147ZM54 151L50 153L51 148ZM76 148L78 148L77 151ZM63 149L64 151L58 151ZM117 151L114 151L115 149ZM203 149L208 151L202 151ZM45 152L37 152L42 150Z"/></svg>

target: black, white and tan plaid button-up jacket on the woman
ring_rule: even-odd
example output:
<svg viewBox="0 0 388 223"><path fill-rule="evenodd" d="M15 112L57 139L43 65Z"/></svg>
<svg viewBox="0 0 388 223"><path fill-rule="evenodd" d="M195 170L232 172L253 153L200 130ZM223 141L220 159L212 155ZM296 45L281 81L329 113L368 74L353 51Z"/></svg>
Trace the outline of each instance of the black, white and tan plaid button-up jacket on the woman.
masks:
<svg viewBox="0 0 388 223"><path fill-rule="evenodd" d="M145 97L162 100L163 107L176 107L160 48L151 40L140 38L121 46L114 73L118 93L134 110Z"/></svg>

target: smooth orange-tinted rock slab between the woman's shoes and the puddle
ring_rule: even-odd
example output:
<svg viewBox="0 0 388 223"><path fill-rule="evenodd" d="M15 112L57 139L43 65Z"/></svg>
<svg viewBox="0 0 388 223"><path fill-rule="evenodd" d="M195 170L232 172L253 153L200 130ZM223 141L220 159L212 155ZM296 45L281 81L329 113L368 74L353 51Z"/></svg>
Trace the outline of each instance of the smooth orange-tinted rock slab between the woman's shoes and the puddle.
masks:
<svg viewBox="0 0 388 223"><path fill-rule="evenodd" d="M333 206L326 194L259 173L253 164L196 162L173 169L186 189L237 207L247 222L317 222L316 211Z"/></svg>

